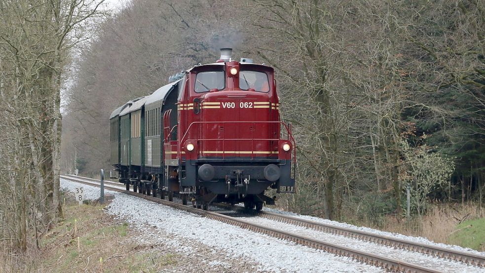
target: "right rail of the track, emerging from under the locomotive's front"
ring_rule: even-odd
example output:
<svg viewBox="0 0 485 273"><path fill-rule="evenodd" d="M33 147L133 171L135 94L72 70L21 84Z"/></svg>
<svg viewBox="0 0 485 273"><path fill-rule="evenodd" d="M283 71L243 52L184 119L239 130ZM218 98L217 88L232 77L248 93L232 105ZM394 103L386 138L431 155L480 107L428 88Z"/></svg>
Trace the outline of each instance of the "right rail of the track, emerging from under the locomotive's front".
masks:
<svg viewBox="0 0 485 273"><path fill-rule="evenodd" d="M217 204L217 205L221 207L231 208L237 211L247 211L247 209L241 206L228 205L228 204ZM338 234L338 235L351 237L351 238L358 238L364 241L370 241L373 243L383 244L386 246L392 246L392 247L410 250L413 252L419 252L419 253L427 254L437 258L444 258L452 261L463 262L469 265L475 265L478 267L485 267L485 256L475 254L475 253L467 253L467 252L453 250L453 249L444 248L440 246L434 246L434 245L399 239L396 237L374 234L371 232L359 231L359 230L339 227L331 224L323 224L323 223L319 223L311 220L305 220L298 217L293 217L289 215L278 214L278 213L273 213L268 211L259 211L259 212L256 212L255 215L263 218L267 218L270 220L297 225L305 228L310 228L310 229L325 232L325 233Z"/></svg>

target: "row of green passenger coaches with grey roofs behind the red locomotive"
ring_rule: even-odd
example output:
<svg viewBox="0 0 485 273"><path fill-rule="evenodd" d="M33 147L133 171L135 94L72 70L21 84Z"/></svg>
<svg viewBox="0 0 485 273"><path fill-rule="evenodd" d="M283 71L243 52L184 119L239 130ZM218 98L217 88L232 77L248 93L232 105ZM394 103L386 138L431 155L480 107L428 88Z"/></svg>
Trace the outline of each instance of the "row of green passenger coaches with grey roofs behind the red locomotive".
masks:
<svg viewBox="0 0 485 273"><path fill-rule="evenodd" d="M166 185L155 183L164 173L163 164L163 124L162 117L171 110L170 121L177 123L177 96L180 80L158 88L146 97L125 103L110 116L111 164L118 170L121 183L127 189L143 193L167 190ZM171 132L175 139L176 128ZM128 175L128 173L130 175ZM129 181L125 181L129 180ZM175 187L170 187L174 191ZM169 196L173 195L173 191Z"/></svg>

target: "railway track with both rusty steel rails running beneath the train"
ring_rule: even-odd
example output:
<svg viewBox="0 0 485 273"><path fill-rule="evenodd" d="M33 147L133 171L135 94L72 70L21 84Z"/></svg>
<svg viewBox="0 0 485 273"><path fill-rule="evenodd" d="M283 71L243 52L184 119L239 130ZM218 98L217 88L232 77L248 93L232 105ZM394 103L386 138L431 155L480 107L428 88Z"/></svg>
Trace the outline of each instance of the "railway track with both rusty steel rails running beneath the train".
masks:
<svg viewBox="0 0 485 273"><path fill-rule="evenodd" d="M83 183L83 184L99 187L99 181L94 179L81 178L76 176L61 176L61 177L63 179L71 180L77 183ZM112 185L112 187L107 185ZM441 272L435 269L414 265L411 263L399 261L389 257L370 254L357 249L352 249L349 247L329 243L315 238L310 238L308 236L302 236L291 232L285 232L280 229L259 225L257 223L251 223L250 221L241 220L224 214L211 212L211 211L204 211L201 209L193 208L191 206L182 205L176 202L170 202L170 201L152 197L149 195L142 195L142 194L126 191L121 186L117 187L118 185L121 185L121 184L105 181L105 188L107 190L112 190L120 193L141 197L176 209L184 210L190 213L194 213L194 214L215 219L224 223L235 225L244 229L267 234L281 239L290 240L295 243L306 245L312 248L321 249L326 252L333 253L339 256L348 256L354 260L358 260L373 266L381 267L391 272L416 272L416 273ZM219 206L223 206L231 210L244 211L244 208L240 206L230 206L230 205L225 205L225 206L219 205ZM485 257L474 253L460 252L460 251L451 250L447 248L402 240L399 238L373 234L373 233L338 227L338 226L329 225L329 224L322 224L322 223L309 221L309 220L305 220L305 219L301 219L293 216L282 215L282 214L277 214L277 213L272 213L267 211L260 211L258 213L255 213L255 215L269 220L277 221L277 222L283 222L283 223L287 223L287 224L291 224L299 227L310 228L312 230L316 230L319 232L338 234L338 235L342 235L350 238L370 241L376 244L382 244L385 246L402 248L413 252L428 254L434 257L445 258L453 261L460 261L465 264L474 265L477 267L485 266Z"/></svg>

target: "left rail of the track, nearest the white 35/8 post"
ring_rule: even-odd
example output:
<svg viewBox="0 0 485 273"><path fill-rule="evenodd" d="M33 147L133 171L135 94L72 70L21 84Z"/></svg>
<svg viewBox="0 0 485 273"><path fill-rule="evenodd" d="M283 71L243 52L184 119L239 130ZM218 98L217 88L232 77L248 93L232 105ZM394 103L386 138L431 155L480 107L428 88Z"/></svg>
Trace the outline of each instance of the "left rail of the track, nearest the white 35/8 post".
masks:
<svg viewBox="0 0 485 273"><path fill-rule="evenodd" d="M73 178L73 177L61 175L61 178L71 180L71 181L75 181L77 183L87 184L87 185L90 185L90 186L95 185L92 182L85 182L85 181L82 180L82 178L79 178L79 177ZM293 241L295 243L298 243L298 244L301 244L301 245L306 245L308 247L315 248L315 249L320 249L320 250L323 250L323 251L326 251L326 252L329 252L329 253L332 253L332 254L335 254L335 255L338 255L338 256L347 256L347 257L352 258L353 260L357 260L359 262L363 262L363 263L369 264L371 266L380 267L380 268L383 268L384 270L387 270L387 271L406 272L406 273L441 273L441 271L437 271L437 270L434 270L434 269L425 268L425 267L418 266L418 265L413 265L413 264L410 264L410 263L407 263L407 262L404 262L404 261L399 261L399 260L396 260L396 259L392 259L392 258L380 256L380 255L366 253L364 251L360 251L360 250L357 250L357 249L352 249L352 248L348 248L348 247L344 247L344 246L339 246L339 245L336 245L336 244L333 244L333 243L327 243L327 242L324 242L324 241L321 241L321 240L309 238L309 237L306 237L306 236L301 236L301 235L298 235L298 234L279 231L279 230L264 227L264 226L261 226L261 225L258 225L258 224L246 222L244 220L237 219L237 218L234 218L234 217L226 216L224 214L206 211L206 210L202 210L202 209L198 209L198 208L193 208L191 206L182 205L182 204L175 203L175 202L170 202L170 201L160 199L160 198L156 198L156 197L152 197L152 196L149 196L149 195L138 194L138 193L122 190L120 188L113 188L113 187L109 187L109 186L105 187L105 188L107 190L112 190L112 191L115 191L115 192L140 197L140 198L143 198L143 199L146 199L146 200L150 200L150 201L153 201L153 202L156 202L156 203L159 203L159 204L163 204L163 205L175 208L175 209L187 211L189 213L193 213L193 214L204 216L204 217L207 217L207 218L210 218L210 219L218 220L220 222L227 223L227 224L230 224L230 225L234 225L234 226L237 226L237 227L240 227L240 228L243 228L243 229L247 229L247 230L250 230L250 231L253 231L253 232L258 232L258 233L261 233L261 234L267 234L267 235L270 235L272 237Z"/></svg>

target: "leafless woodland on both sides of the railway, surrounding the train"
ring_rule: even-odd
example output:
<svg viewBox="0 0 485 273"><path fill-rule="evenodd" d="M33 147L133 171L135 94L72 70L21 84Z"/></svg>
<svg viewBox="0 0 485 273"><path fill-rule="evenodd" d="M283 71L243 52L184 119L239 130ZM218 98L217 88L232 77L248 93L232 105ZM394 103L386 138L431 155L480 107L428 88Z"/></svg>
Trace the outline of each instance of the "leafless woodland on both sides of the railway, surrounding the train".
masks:
<svg viewBox="0 0 485 273"><path fill-rule="evenodd" d="M17 102L0 109L1 130L16 133L0 143L3 194L15 197L2 201L0 216L15 247L62 214L59 173L111 168L113 109L216 61L220 47L275 68L282 120L298 145L297 191L278 206L418 235L430 214L430 231L449 220L436 204L460 211L458 222L484 216L482 0L132 0L112 16L80 7L69 24L54 20L36 33L50 32L26 35L22 56L31 58L18 58L20 47L5 39L16 29L0 21L1 98Z"/></svg>

